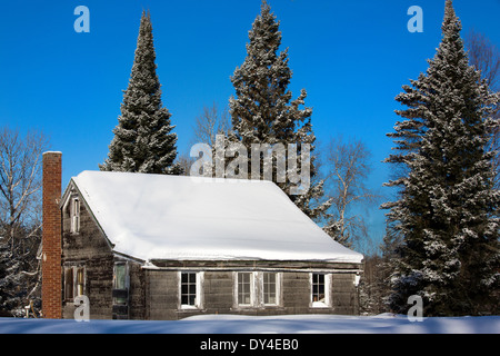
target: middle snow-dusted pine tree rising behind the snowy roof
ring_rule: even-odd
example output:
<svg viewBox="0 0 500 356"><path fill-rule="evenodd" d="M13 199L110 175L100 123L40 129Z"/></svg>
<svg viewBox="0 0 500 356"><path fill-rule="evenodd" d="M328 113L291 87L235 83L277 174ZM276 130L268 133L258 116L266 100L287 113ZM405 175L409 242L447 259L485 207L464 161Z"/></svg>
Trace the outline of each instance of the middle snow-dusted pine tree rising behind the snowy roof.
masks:
<svg viewBox="0 0 500 356"><path fill-rule="evenodd" d="M243 144L248 152L251 151L252 144L282 144L286 149L289 144L294 144L299 170L302 145L310 145L310 177L311 182L316 182L317 171L312 155L316 137L310 120L312 109L299 108L304 105L306 90L302 89L294 100L288 90L292 72L288 66L288 49L279 52L281 46L279 24L269 4L262 1L261 13L256 18L249 32L250 41L247 43L244 62L231 77L236 98L232 97L229 102L232 122L229 141ZM250 167L248 171L251 171ZM273 171L276 174L276 165ZM319 200L322 196L322 181L316 182L301 195L293 195L290 191L292 184L279 182L274 174L273 181L308 216L316 218L328 208L328 205L312 206L312 201Z"/></svg>

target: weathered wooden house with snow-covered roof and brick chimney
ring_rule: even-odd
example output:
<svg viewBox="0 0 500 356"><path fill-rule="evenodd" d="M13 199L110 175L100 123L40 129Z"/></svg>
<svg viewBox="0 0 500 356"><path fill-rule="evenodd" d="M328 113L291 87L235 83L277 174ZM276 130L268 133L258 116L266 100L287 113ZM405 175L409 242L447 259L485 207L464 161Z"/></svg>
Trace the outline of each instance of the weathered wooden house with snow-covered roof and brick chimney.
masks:
<svg viewBox="0 0 500 356"><path fill-rule="evenodd" d="M270 181L83 171L43 155L42 310L73 318L357 314L363 256Z"/></svg>

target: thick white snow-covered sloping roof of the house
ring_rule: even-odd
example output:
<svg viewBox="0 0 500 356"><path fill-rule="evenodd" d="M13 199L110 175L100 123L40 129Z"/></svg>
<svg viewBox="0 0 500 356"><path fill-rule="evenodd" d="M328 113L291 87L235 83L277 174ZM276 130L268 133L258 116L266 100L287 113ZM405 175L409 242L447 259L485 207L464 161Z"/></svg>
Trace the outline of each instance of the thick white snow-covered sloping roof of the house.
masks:
<svg viewBox="0 0 500 356"><path fill-rule="evenodd" d="M143 260L363 258L270 181L104 171L72 181L113 250Z"/></svg>

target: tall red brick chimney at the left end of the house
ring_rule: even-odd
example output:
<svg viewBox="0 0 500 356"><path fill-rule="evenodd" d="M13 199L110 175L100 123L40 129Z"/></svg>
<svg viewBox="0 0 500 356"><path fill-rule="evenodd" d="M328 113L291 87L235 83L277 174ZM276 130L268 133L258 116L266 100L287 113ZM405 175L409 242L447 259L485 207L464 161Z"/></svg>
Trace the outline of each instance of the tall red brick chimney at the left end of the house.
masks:
<svg viewBox="0 0 500 356"><path fill-rule="evenodd" d="M42 313L62 317L61 152L43 154Z"/></svg>

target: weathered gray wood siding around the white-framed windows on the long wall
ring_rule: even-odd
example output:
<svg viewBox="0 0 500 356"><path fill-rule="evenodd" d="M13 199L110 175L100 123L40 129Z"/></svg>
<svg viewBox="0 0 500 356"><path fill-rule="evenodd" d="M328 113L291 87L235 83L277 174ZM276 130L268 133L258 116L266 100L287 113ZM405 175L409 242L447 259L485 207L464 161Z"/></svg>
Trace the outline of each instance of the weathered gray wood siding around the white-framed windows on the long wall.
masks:
<svg viewBox="0 0 500 356"><path fill-rule="evenodd" d="M248 270L256 271L256 269ZM280 297L277 306L238 307L234 294L234 273L203 271L203 306L182 309L177 270L147 269L146 310L148 319L182 319L203 314L283 315L283 314L346 314L358 313L356 273L331 273L329 307L312 307L310 271L281 271Z"/></svg>

